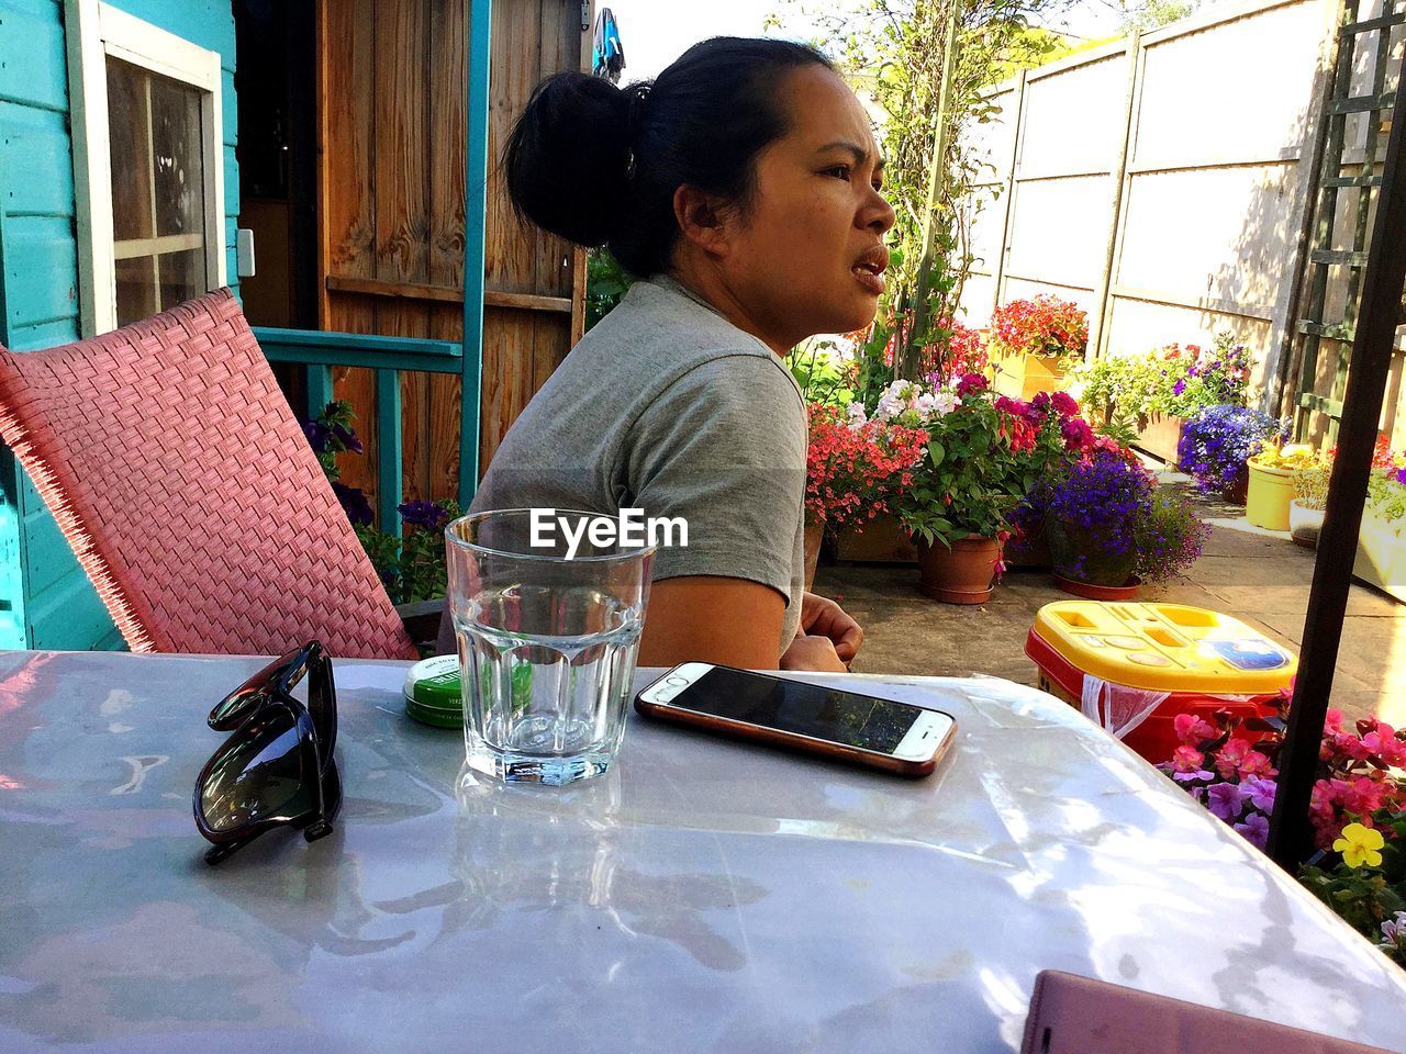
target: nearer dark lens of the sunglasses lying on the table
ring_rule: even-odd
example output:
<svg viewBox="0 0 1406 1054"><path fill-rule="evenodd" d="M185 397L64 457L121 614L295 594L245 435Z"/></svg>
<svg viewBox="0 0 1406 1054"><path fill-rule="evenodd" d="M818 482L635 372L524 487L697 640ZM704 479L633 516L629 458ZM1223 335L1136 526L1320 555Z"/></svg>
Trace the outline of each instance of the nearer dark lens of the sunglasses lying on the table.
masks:
<svg viewBox="0 0 1406 1054"><path fill-rule="evenodd" d="M205 826L224 833L307 812L312 808L308 780L319 773L305 772L304 762L314 756L304 749L294 713L270 707L211 759L200 788Z"/></svg>

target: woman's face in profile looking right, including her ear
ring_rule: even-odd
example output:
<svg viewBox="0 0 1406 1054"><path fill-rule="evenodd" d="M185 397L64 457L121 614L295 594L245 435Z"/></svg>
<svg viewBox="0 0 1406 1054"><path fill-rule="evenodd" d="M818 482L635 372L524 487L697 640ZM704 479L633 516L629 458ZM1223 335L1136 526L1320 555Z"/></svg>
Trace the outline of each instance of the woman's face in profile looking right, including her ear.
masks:
<svg viewBox="0 0 1406 1054"><path fill-rule="evenodd" d="M782 90L790 131L756 159L756 190L737 211L721 277L772 347L873 320L893 208L883 162L855 93L823 66L790 73Z"/></svg>

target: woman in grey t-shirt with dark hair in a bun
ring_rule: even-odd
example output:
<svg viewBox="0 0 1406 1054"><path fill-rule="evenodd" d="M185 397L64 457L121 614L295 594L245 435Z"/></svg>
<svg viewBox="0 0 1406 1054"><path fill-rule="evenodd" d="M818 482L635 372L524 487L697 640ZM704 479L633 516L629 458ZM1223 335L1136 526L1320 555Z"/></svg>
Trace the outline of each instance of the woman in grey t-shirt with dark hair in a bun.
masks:
<svg viewBox="0 0 1406 1054"><path fill-rule="evenodd" d="M883 291L863 107L820 52L724 37L652 84L543 82L505 166L520 216L643 280L513 423L472 512L683 517L641 665L844 670L863 631L803 587L806 405L782 357L866 326Z"/></svg>

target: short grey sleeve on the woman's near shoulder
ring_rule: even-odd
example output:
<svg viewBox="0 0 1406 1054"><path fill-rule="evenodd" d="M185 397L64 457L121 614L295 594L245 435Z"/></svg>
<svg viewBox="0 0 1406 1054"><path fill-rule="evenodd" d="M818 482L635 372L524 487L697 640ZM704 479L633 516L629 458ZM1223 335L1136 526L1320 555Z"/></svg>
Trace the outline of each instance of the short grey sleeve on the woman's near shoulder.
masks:
<svg viewBox="0 0 1406 1054"><path fill-rule="evenodd" d="M792 603L806 412L779 361L738 353L693 367L645 408L626 451L643 514L688 523L688 545L655 555L655 580L740 578Z"/></svg>

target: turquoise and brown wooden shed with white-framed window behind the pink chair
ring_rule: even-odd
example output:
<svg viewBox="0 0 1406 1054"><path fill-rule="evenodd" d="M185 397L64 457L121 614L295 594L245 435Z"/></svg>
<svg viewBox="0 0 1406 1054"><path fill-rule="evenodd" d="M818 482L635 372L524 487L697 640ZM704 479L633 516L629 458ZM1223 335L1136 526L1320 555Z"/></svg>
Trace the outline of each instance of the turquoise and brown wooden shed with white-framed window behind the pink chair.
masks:
<svg viewBox="0 0 1406 1054"><path fill-rule="evenodd" d="M581 330L583 254L516 223L495 162L536 82L589 58L592 14L0 0L0 341L49 347L229 285L270 360L302 364L280 367L299 413L353 401L370 445L344 478L382 513L392 488L471 493ZM398 370L350 365L363 354ZM120 637L0 447L0 648L105 646Z"/></svg>

